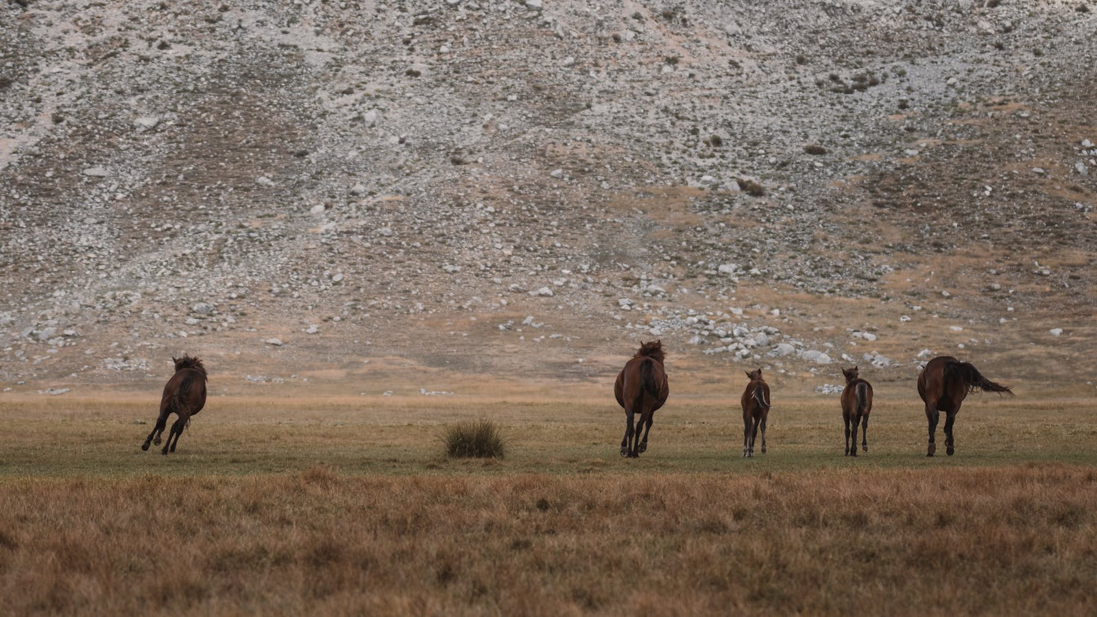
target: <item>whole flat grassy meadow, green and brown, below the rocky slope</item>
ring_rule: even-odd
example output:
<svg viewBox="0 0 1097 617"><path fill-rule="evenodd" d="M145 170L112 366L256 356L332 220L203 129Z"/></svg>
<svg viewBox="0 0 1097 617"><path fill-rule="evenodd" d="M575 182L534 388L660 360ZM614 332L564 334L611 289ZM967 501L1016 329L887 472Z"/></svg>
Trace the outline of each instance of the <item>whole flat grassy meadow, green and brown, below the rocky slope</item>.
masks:
<svg viewBox="0 0 1097 617"><path fill-rule="evenodd" d="M0 613L1083 614L1097 602L1090 399L970 396L925 457L909 393L842 456L836 396L671 395L621 459L597 391L214 396L167 457L155 397L0 399ZM289 390L286 391L289 392ZM890 395L891 394L891 395ZM151 402L150 402L151 399ZM507 455L443 455L501 425ZM938 434L938 439L943 439Z"/></svg>

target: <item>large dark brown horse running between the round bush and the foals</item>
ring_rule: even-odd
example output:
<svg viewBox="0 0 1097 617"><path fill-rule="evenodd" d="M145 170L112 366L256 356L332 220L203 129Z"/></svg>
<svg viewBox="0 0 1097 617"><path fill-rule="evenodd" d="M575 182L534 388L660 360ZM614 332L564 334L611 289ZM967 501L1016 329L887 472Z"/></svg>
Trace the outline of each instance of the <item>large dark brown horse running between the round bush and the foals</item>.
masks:
<svg viewBox="0 0 1097 617"><path fill-rule="evenodd" d="M640 349L618 374L613 394L624 407L624 439L621 440L621 456L635 458L647 450L647 434L652 431L652 418L656 410L667 402L670 388L667 373L663 370L663 341L641 343ZM640 414L633 428L633 416ZM644 438L640 429L644 427Z"/></svg>

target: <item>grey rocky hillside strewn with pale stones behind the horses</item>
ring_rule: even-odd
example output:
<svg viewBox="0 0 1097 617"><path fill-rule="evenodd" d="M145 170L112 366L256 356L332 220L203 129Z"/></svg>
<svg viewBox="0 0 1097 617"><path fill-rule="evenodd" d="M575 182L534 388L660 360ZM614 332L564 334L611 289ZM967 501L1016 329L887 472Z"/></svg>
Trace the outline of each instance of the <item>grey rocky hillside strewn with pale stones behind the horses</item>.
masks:
<svg viewBox="0 0 1097 617"><path fill-rule="evenodd" d="M1095 33L1092 0L8 0L0 385L601 380L653 337L717 381L1084 384Z"/></svg>

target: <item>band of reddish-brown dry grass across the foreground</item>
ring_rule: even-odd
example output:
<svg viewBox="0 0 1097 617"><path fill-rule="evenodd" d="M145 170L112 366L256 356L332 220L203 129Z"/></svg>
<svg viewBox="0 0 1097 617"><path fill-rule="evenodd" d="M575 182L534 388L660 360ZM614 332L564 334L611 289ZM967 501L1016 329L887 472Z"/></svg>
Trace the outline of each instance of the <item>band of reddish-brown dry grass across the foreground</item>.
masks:
<svg viewBox="0 0 1097 617"><path fill-rule="evenodd" d="M5 479L10 614L1083 614L1097 472Z"/></svg>

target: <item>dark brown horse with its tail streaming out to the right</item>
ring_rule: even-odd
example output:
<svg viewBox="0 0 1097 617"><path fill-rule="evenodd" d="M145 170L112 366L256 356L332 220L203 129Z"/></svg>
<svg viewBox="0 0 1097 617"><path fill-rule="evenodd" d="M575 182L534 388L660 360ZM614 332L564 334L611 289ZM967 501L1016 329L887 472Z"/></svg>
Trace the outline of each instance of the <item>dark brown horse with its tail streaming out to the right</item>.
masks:
<svg viewBox="0 0 1097 617"><path fill-rule="evenodd" d="M952 456L952 423L957 419L960 403L969 392L980 390L1014 395L1009 386L994 383L980 374L972 364L951 356L938 356L921 369L921 374L918 375L918 395L926 402L926 418L929 420L927 457L937 451L934 434L937 433L937 420L941 412L945 412L945 451Z"/></svg>

